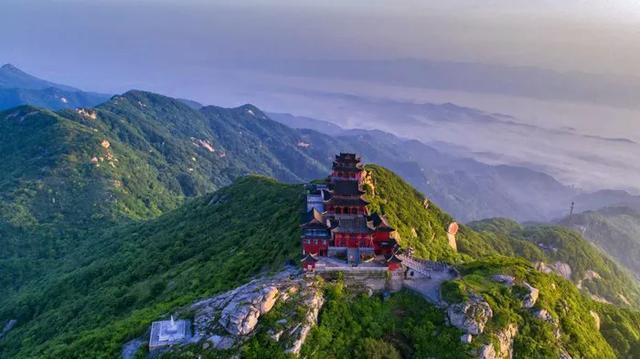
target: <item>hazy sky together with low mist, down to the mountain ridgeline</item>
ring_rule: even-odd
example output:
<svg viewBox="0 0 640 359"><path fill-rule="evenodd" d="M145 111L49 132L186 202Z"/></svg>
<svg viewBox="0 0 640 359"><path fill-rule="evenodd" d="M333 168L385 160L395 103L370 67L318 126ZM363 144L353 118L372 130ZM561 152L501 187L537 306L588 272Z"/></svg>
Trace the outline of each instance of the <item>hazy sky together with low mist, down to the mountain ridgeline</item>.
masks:
<svg viewBox="0 0 640 359"><path fill-rule="evenodd" d="M0 63L47 80L220 106L253 103L448 142L476 159L531 166L587 189L640 192L640 168L629 165L640 157L640 106L596 101L603 88L614 100L620 95L622 103L640 104L640 1L0 1ZM425 88L376 81L375 70L351 76L341 65L406 59L496 65L496 77L486 81L504 86L497 93ZM402 74L403 62L393 64L390 73ZM555 92L532 84L538 75L553 81L556 74ZM575 76L582 85L563 87ZM533 89L509 93L512 80ZM411 112L426 102L506 114L537 130L534 136L477 122L432 123ZM411 116L419 121L395 126ZM465 131L475 137L459 135Z"/></svg>

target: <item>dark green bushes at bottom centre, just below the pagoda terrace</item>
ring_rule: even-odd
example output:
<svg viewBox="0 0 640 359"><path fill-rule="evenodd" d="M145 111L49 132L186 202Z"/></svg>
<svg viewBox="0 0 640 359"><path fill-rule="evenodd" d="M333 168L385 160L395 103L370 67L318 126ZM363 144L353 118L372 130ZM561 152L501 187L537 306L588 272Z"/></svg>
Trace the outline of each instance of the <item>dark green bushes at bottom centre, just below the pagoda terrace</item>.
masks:
<svg viewBox="0 0 640 359"><path fill-rule="evenodd" d="M400 292L388 300L352 295L341 282L302 348L305 358L466 358L460 331L419 296Z"/></svg>

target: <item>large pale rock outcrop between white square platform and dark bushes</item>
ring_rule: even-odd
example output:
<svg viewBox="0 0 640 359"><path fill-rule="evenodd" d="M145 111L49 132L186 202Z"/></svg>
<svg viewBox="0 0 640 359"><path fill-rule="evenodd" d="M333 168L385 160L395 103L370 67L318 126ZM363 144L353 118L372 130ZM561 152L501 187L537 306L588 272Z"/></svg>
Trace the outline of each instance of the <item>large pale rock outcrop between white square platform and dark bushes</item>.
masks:
<svg viewBox="0 0 640 359"><path fill-rule="evenodd" d="M323 291L317 282L300 274L298 268L288 268L274 276L251 282L191 305L195 311L196 341L203 347L233 350L251 338L261 324L263 315L278 303L279 320L265 327L271 338L281 343L288 353L298 355L324 304ZM296 315L304 308L304 316ZM294 311L296 311L294 313ZM302 318L302 319L300 319ZM225 334L221 334L224 333Z"/></svg>

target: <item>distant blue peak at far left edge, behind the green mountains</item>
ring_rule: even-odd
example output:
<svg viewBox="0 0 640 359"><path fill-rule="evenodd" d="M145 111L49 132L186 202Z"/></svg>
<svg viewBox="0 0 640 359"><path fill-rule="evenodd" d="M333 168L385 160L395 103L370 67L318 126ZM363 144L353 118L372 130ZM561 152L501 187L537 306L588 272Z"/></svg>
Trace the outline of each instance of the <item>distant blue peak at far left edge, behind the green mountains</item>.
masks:
<svg viewBox="0 0 640 359"><path fill-rule="evenodd" d="M93 107L109 97L39 79L11 64L0 67L0 110L25 104L54 110Z"/></svg>

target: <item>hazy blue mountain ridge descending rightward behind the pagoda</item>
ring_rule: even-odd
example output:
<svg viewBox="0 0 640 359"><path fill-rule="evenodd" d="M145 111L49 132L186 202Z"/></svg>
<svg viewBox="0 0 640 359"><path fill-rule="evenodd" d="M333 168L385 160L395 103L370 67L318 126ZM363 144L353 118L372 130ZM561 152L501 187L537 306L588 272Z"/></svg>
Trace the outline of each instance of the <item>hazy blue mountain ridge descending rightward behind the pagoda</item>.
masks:
<svg viewBox="0 0 640 359"><path fill-rule="evenodd" d="M367 160L401 174L465 222L491 217L547 222L567 215L571 202L575 203L576 212L630 203L640 206L640 197L625 191L580 191L527 167L487 165L449 154L446 145L436 144L436 148L382 131L345 130L327 121L291 114L269 116L301 129L310 141L314 135L304 129L331 135L333 141L362 153Z"/></svg>

